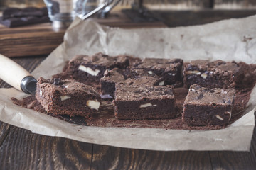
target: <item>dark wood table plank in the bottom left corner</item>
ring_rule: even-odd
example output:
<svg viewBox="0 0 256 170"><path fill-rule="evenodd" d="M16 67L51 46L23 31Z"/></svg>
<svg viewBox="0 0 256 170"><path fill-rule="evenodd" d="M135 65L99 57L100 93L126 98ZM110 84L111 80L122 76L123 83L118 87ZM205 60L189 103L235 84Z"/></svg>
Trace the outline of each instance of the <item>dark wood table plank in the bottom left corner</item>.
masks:
<svg viewBox="0 0 256 170"><path fill-rule="evenodd" d="M11 126L0 153L1 169L90 169L92 144Z"/></svg>

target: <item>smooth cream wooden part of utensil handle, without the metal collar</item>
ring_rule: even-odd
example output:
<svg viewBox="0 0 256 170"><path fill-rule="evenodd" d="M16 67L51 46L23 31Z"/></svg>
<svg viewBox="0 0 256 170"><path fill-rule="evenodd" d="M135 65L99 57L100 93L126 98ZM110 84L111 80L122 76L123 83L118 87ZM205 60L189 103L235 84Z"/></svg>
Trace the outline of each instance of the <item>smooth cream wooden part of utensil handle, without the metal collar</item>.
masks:
<svg viewBox="0 0 256 170"><path fill-rule="evenodd" d="M31 76L31 74L26 69L8 57L0 55L0 79L22 91L21 81L28 76Z"/></svg>

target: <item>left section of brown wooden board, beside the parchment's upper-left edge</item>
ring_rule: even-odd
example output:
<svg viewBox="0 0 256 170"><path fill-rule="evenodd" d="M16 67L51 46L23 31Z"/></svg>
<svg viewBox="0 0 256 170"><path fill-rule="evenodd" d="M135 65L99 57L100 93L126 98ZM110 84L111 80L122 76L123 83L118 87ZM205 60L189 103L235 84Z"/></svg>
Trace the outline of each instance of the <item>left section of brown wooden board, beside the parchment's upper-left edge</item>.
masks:
<svg viewBox="0 0 256 170"><path fill-rule="evenodd" d="M61 42L65 30L55 31L50 23L5 28L0 26L0 53L8 57L46 55Z"/></svg>

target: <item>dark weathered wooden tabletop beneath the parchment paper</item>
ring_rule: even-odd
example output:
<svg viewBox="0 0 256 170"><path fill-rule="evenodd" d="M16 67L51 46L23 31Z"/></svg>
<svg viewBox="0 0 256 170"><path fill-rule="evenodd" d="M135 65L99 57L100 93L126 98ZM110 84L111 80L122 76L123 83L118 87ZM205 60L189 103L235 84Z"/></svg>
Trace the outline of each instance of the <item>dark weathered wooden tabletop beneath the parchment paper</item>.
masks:
<svg viewBox="0 0 256 170"><path fill-rule="evenodd" d="M31 72L46 55L13 60ZM0 87L8 87L0 81ZM95 145L33 134L0 122L0 169L255 169L256 132L250 152L158 152Z"/></svg>

